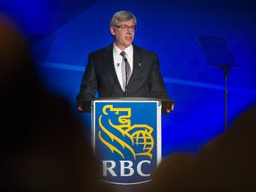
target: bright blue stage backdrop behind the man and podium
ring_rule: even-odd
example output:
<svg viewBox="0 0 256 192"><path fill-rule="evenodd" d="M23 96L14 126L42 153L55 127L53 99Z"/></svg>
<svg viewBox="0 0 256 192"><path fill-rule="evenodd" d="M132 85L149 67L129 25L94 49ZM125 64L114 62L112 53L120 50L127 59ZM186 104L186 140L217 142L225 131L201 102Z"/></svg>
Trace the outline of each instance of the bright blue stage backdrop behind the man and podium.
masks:
<svg viewBox="0 0 256 192"><path fill-rule="evenodd" d="M89 52L111 44L119 10L138 19L134 44L158 53L175 110L163 116L163 156L195 152L225 130L224 71L210 68L196 36L225 36L239 68L228 71L228 125L256 103L256 6L244 0L1 0L30 43L49 91L70 101ZM89 115L81 115L86 125ZM89 129L89 128L87 128Z"/></svg>

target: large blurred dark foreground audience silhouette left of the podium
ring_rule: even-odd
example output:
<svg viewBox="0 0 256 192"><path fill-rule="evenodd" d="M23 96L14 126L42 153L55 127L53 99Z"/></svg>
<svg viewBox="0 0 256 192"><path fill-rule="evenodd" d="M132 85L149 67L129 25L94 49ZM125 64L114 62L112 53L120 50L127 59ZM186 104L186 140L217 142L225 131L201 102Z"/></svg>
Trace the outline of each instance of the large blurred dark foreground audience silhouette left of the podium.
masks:
<svg viewBox="0 0 256 192"><path fill-rule="evenodd" d="M2 14L0 88L0 191L101 191L84 127L44 90L26 39Z"/></svg>

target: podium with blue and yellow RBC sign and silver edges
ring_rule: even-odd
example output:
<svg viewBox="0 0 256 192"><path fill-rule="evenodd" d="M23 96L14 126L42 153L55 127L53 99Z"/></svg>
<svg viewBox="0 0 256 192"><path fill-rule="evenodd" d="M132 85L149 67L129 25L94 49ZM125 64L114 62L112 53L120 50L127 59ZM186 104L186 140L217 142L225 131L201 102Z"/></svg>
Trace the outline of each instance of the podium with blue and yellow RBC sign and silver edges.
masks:
<svg viewBox="0 0 256 192"><path fill-rule="evenodd" d="M121 185L151 180L162 157L164 101L167 100L92 100L92 147L101 164L100 180Z"/></svg>

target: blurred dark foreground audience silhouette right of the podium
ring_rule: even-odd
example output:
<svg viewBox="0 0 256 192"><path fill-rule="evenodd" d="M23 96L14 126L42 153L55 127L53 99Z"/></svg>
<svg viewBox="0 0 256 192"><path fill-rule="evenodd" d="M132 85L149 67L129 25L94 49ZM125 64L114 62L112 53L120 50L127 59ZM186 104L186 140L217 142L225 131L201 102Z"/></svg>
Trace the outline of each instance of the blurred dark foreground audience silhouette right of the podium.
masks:
<svg viewBox="0 0 256 192"><path fill-rule="evenodd" d="M191 156L166 156L154 173L155 191L256 190L256 107L244 111L229 132L210 140Z"/></svg>

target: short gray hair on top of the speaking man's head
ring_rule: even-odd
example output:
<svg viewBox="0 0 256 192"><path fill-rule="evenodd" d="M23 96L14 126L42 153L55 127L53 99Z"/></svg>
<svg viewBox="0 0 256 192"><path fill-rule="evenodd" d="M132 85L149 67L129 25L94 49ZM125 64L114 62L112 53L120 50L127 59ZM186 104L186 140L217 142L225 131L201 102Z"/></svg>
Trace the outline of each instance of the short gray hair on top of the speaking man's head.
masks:
<svg viewBox="0 0 256 192"><path fill-rule="evenodd" d="M112 19L110 20L110 26L116 26L118 21L128 21L128 20L134 20L135 26L137 26L137 20L136 17L132 14L132 12L127 11L120 11L116 12Z"/></svg>

